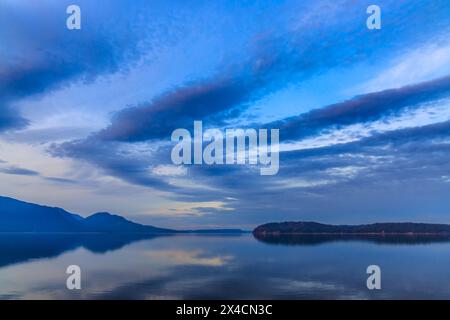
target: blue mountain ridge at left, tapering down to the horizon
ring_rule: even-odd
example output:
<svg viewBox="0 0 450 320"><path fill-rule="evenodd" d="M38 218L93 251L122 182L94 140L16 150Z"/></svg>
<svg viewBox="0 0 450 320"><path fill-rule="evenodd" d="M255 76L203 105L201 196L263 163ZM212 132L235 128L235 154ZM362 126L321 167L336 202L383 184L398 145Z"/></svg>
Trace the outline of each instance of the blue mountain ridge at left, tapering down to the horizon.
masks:
<svg viewBox="0 0 450 320"><path fill-rule="evenodd" d="M132 222L108 212L87 218L61 208L0 196L0 232L33 233L242 233L239 229L173 230Z"/></svg>

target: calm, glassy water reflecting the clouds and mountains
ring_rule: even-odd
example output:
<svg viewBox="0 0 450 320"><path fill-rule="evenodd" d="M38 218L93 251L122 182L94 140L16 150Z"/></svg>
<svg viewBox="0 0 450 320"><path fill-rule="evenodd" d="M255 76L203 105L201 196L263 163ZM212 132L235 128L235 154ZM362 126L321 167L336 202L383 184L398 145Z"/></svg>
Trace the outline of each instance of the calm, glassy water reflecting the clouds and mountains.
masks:
<svg viewBox="0 0 450 320"><path fill-rule="evenodd" d="M65 270L82 269L82 290ZM366 268L382 290L366 288ZM1 299L450 298L442 239L0 235Z"/></svg>

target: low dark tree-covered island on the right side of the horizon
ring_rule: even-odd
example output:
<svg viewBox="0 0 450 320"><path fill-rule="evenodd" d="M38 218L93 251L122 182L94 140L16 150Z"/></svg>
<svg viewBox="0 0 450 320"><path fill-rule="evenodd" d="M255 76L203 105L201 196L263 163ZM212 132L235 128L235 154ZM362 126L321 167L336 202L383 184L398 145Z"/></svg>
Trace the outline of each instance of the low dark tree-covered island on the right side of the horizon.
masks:
<svg viewBox="0 0 450 320"><path fill-rule="evenodd" d="M253 230L255 235L286 234L450 234L448 224L374 223L363 225L329 225L317 222L267 223Z"/></svg>

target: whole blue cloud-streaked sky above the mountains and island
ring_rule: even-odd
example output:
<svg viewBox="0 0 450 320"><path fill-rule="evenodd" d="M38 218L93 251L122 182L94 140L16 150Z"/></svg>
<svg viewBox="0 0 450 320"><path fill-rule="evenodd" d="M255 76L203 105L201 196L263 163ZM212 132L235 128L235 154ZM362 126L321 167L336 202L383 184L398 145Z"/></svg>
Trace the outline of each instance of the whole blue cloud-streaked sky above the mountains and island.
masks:
<svg viewBox="0 0 450 320"><path fill-rule="evenodd" d="M0 195L172 228L450 223L449 17L447 0L0 0ZM278 174L174 165L196 120L279 129Z"/></svg>

